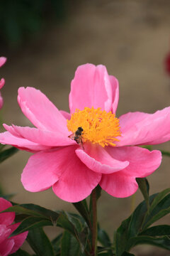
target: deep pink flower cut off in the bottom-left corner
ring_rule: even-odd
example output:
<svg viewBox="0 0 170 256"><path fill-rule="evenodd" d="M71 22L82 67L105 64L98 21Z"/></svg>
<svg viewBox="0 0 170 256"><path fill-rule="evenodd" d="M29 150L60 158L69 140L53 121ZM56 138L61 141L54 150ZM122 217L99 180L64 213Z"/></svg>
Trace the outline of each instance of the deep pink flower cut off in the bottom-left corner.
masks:
<svg viewBox="0 0 170 256"><path fill-rule="evenodd" d="M11 207L11 203L4 198L0 198L0 211L6 210ZM0 213L0 255L7 256L16 252L23 242L26 240L28 232L21 233L19 235L13 235L9 238L9 235L13 233L20 223L12 224L15 219L15 213Z"/></svg>

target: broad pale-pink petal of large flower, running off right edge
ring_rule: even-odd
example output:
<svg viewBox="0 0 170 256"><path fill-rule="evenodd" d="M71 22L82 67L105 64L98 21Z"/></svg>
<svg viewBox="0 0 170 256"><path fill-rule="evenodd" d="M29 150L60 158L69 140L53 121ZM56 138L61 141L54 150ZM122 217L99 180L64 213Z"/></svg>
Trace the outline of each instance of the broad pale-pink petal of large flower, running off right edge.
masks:
<svg viewBox="0 0 170 256"><path fill-rule="evenodd" d="M170 139L170 107L154 114L129 112L120 117L120 142L117 146L157 144Z"/></svg>

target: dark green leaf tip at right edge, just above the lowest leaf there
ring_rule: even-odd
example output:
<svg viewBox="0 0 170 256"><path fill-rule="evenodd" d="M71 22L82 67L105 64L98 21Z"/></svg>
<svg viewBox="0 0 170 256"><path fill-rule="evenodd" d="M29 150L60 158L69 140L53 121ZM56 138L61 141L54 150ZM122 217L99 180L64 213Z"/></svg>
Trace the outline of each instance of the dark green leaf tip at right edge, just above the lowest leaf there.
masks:
<svg viewBox="0 0 170 256"><path fill-rule="evenodd" d="M140 235L149 235L149 236L160 236L160 235L170 235L170 225L157 225L147 230L142 231Z"/></svg>

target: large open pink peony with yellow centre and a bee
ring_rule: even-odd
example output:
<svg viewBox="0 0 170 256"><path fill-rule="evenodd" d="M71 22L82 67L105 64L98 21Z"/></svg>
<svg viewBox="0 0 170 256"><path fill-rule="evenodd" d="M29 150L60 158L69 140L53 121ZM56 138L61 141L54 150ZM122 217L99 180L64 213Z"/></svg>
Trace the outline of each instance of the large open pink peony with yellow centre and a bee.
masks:
<svg viewBox="0 0 170 256"><path fill-rule="evenodd" d="M20 87L18 104L35 127L4 127L0 142L31 151L21 181L31 192L52 186L65 201L77 202L99 184L111 196L137 191L135 178L152 174L161 164L160 151L142 144L170 139L170 107L146 114L115 117L118 80L103 65L77 68L69 94L70 114L57 110L33 87Z"/></svg>

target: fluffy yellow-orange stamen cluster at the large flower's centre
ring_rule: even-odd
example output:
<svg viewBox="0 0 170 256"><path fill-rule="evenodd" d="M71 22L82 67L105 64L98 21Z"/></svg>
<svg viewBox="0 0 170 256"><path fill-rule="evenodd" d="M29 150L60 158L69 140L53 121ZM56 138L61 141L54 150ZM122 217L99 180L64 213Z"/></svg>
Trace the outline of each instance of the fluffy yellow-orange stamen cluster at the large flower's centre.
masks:
<svg viewBox="0 0 170 256"><path fill-rule="evenodd" d="M75 133L77 129L83 129L82 142L91 142L101 146L115 146L120 136L119 119L112 112L101 110L100 107L85 107L84 110L76 110L70 120L67 120L67 128Z"/></svg>

